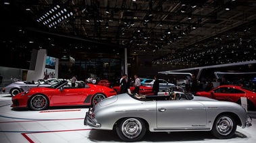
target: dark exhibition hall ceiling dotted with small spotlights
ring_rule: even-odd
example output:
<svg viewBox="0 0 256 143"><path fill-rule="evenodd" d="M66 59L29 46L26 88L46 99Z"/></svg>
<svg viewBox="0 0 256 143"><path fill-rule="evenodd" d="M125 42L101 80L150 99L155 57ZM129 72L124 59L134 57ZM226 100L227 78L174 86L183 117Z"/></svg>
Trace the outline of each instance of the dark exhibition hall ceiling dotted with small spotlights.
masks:
<svg viewBox="0 0 256 143"><path fill-rule="evenodd" d="M256 57L253 0L13 0L0 9L2 46L13 50L81 60L127 48L153 63L201 66Z"/></svg>

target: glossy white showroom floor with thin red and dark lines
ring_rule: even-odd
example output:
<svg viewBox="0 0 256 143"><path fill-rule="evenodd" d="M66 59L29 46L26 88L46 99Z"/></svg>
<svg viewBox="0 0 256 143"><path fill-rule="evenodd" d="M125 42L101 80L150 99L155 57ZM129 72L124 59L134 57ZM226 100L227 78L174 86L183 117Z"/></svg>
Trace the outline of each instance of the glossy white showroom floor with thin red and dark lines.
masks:
<svg viewBox="0 0 256 143"><path fill-rule="evenodd" d="M115 131L91 130L84 126L88 108L51 108L45 111L12 109L11 96L0 93L1 143L122 142ZM255 113L253 112L253 115ZM256 119L251 128L237 128L233 138L217 140L210 132L147 132L140 142L256 142Z"/></svg>

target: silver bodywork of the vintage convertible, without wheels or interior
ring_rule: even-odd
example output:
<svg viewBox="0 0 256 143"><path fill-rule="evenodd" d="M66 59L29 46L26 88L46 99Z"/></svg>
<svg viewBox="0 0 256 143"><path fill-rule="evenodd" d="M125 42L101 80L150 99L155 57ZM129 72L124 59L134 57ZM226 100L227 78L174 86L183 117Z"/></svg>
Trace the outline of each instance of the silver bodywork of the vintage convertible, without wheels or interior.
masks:
<svg viewBox="0 0 256 143"><path fill-rule="evenodd" d="M99 102L93 109L95 117L84 120L87 126L101 130L113 130L116 122L126 117L145 120L151 132L209 131L216 117L233 113L242 128L247 125L247 112L237 103L217 101L207 97L192 100L140 101L124 93Z"/></svg>

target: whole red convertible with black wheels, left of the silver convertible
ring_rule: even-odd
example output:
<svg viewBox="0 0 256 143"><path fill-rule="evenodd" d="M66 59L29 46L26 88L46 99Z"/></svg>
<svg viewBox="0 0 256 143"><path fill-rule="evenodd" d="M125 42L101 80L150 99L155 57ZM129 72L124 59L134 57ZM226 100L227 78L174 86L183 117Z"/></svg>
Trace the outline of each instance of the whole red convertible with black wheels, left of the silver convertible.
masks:
<svg viewBox="0 0 256 143"><path fill-rule="evenodd" d="M35 87L12 97L11 107L27 107L43 110L52 106L95 105L106 97L116 95L109 87L79 84L69 87L68 81L60 81L51 87Z"/></svg>

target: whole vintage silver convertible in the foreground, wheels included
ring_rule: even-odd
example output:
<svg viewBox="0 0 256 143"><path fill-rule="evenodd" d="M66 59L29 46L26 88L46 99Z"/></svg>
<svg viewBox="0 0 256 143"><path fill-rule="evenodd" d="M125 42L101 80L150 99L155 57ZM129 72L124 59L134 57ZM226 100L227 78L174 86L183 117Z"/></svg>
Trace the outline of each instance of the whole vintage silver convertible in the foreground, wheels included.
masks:
<svg viewBox="0 0 256 143"><path fill-rule="evenodd" d="M159 95L123 93L103 99L86 111L84 125L116 130L124 142L141 140L151 132L211 131L220 139L231 138L236 127L251 126L251 117L239 104L198 97L182 87Z"/></svg>

